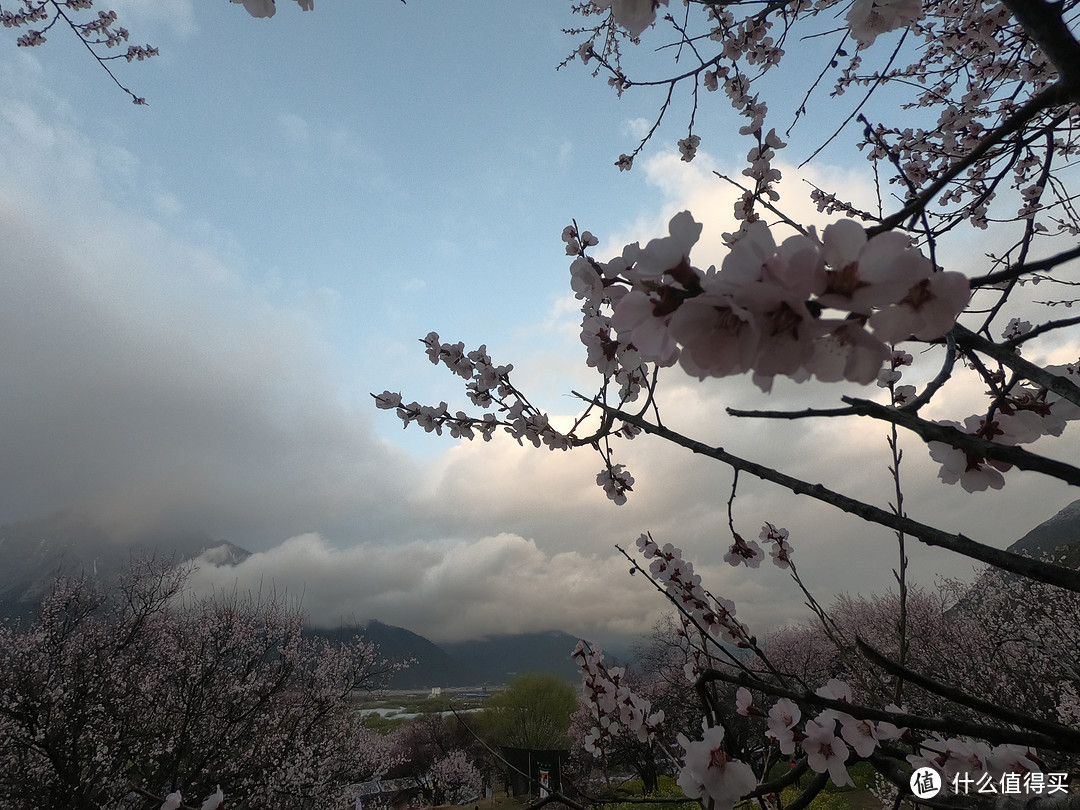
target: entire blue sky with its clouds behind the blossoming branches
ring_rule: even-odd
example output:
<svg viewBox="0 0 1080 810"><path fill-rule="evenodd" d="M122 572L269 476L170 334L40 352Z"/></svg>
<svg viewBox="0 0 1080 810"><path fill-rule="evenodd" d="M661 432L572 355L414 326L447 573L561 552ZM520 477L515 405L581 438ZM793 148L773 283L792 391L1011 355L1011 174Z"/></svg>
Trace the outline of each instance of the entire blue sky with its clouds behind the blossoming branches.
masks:
<svg viewBox="0 0 1080 810"><path fill-rule="evenodd" d="M206 567L207 584L272 580L322 621L436 638L646 629L663 605L612 545L651 529L700 559L744 621L799 615L779 572L720 562L723 470L635 442L636 497L616 509L586 453L403 432L368 396L463 407L416 342L434 329L486 342L535 402L572 415L565 392L590 378L563 227L577 218L606 257L690 207L706 224L698 264L719 262L734 195L711 170L738 173L750 148L725 99L699 111L694 163L675 150L683 99L620 173L660 99L619 99L577 62L555 70L577 45L561 33L568 3L320 0L309 13L282 2L273 19L224 0L113 5L161 49L117 65L148 107L59 29L32 51L0 43L0 519L77 509L121 538L206 530L259 552L241 571ZM801 96L792 80L773 86L778 107ZM782 157L807 157L829 120L823 109ZM841 140L785 167L793 210L816 217L802 178L872 198L852 154ZM837 395L781 383L762 401L746 381L676 375L666 402L688 432L880 503L879 428L720 416ZM942 487L924 451L910 455L913 512L999 545L1070 500L1021 478L1010 486L1028 505L1002 517L993 496ZM887 532L750 483L740 503L744 534L768 519L806 543L823 598L888 585ZM928 582L970 570L913 557Z"/></svg>

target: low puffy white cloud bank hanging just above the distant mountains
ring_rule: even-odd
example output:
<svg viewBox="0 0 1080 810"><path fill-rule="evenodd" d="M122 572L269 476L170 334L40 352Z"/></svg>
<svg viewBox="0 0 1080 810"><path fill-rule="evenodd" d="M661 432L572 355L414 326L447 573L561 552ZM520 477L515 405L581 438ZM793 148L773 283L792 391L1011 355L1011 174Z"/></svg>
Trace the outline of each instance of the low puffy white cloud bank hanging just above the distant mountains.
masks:
<svg viewBox="0 0 1080 810"><path fill-rule="evenodd" d="M322 626L375 618L438 642L535 630L610 637L643 633L658 616L647 583L608 586L629 568L613 554L544 552L512 534L346 549L303 535L235 567L198 565L197 590L272 588L302 594Z"/></svg>

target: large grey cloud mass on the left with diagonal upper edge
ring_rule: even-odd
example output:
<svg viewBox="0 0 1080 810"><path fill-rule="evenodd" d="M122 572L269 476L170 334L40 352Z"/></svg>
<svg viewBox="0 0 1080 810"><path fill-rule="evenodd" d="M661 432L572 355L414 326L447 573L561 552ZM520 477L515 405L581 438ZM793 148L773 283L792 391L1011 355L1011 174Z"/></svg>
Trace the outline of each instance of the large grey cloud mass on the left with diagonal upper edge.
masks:
<svg viewBox="0 0 1080 810"><path fill-rule="evenodd" d="M14 98L0 124L4 518L81 505L122 532L201 524L256 545L313 527L394 536L390 512L365 513L410 462L366 403L343 404L320 325L338 293L266 295L230 234L179 221L152 188L146 210L198 243L112 204L131 162L63 108Z"/></svg>

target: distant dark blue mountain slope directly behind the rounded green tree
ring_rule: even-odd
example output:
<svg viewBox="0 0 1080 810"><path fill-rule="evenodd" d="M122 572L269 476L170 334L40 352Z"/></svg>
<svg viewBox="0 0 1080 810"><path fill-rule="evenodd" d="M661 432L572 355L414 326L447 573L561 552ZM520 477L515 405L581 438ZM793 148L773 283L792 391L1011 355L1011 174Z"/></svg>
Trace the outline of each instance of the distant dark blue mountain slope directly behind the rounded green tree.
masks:
<svg viewBox="0 0 1080 810"><path fill-rule="evenodd" d="M578 683L581 671L570 660L577 636L562 631L498 635L440 645L468 664L484 684L508 684L527 672L549 672Z"/></svg>

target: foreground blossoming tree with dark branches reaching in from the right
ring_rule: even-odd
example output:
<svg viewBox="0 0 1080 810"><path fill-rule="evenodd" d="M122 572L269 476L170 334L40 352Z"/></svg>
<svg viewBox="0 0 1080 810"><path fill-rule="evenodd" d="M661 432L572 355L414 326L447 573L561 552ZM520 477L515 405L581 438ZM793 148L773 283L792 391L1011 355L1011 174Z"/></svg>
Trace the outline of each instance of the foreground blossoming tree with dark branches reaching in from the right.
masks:
<svg viewBox="0 0 1080 810"><path fill-rule="evenodd" d="M582 409L568 430L556 429L514 386L513 366L497 364L486 347L470 351L435 333L423 339L429 357L465 380L468 397L482 413L451 413L446 403L421 405L390 391L376 395L376 405L395 411L406 426L446 430L454 437L487 441L505 431L519 443L552 450L593 448L603 462L596 482L617 504L626 501L635 482L632 471L616 461L616 448L645 433L729 467L735 482L729 512L739 475L752 475L895 534L900 590L887 645L869 629L840 632L806 589L793 556L797 543L787 529L761 516L760 535L753 540L739 534L733 516L729 521L726 559L756 568L768 551L802 590L831 640L839 639L839 654L858 659L858 666L843 672L852 677L873 673L875 683L886 686L877 690L838 677L807 683L778 665L781 657L772 660L737 618L735 605L711 592L672 543L644 534L636 555L623 552L675 605L697 650L685 675L687 697L700 701L701 732L697 739L680 735L670 752L687 796L710 808L748 798L774 802L809 769L818 775L792 805L805 807L828 781L849 784L848 766L865 761L894 785L897 802L920 788L924 804L937 807L1012 807L1032 800L1040 807L1080 806L1080 797L1066 787L1069 764L1080 753L1071 697L1080 673L1051 667L1055 683L1045 691L1055 700L1014 703L1009 692L975 693L978 685L956 670L948 683L918 672L908 633L912 617L926 605L921 594L908 590L906 546L915 540L987 564L1043 599L1080 592L1080 577L1066 566L909 518L900 468L903 435L927 446L943 484L971 492L1001 489L1013 468L1080 484L1080 469L1025 447L1043 436L1062 436L1067 422L1080 416L1080 362L1040 366L1022 355L1036 340L1067 345L1075 340L1070 328L1080 323L1054 318L1055 307L1072 303L1070 287L1080 283L1070 264L1080 257L1075 240L1080 217L1069 185L1080 151L1076 4L689 0L667 6L667 0L576 5L584 22L570 31L578 45L567 62L591 66L621 95L662 89L656 124L618 158L621 170L631 170L660 132L676 93L685 93L691 108L678 149L683 160L693 160L702 143L694 131L699 105L710 94L727 97L744 119L740 135L750 141L745 179L720 178L741 190L737 227L725 234L727 252L708 257L707 268L691 258L702 225L690 212L673 217L666 235L644 246L626 245L607 259L594 255L598 240L593 233L577 222L564 230L570 284L582 302L585 362L598 376L595 392L579 394ZM676 73L660 79L633 73L632 48L647 39L679 55ZM807 44L811 41L816 50ZM851 137L845 125L856 124L853 138L868 159L868 173L879 189L895 188L888 200L879 194L876 211L859 207L840 189L814 188L811 199L819 211L836 216L820 231L785 211L774 160L786 144L769 125L773 113L759 91L791 60L785 51L795 43L806 51L801 66L808 53L822 57L794 112L796 122L826 83L833 97L858 93L861 99L829 140ZM891 109L908 110L904 120L872 121L862 112L868 99L878 107L886 95ZM1005 247L986 256L981 274L941 266L943 246L959 230L991 227ZM1039 282L1062 293L1040 302L1045 316L1032 323L1030 313L1018 308L1016 291ZM929 382L920 390L904 380L913 365L933 369L923 374ZM750 375L764 393L778 376L834 383L839 390L832 408L729 414L880 420L895 483L889 508L665 427L659 402L664 380L677 374L675 366L701 380ZM977 413L954 419L923 415L929 403L942 402L941 392L954 380L968 375L987 391ZM875 382L881 396L865 393L863 387ZM1032 613L1021 616L1035 621ZM1026 630L1014 633L1021 648L1038 632ZM609 669L586 644L575 657L592 704L586 747L602 755L620 737L664 739L663 712L635 692L621 670ZM739 688L734 705L718 700L717 683ZM733 714L760 718L762 744L771 741L764 757L730 732ZM795 767L778 777L772 768L778 758ZM918 773L923 768L939 780L953 780L953 789L939 796L922 791Z"/></svg>

